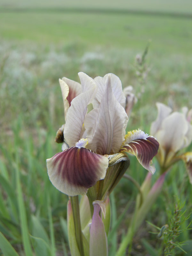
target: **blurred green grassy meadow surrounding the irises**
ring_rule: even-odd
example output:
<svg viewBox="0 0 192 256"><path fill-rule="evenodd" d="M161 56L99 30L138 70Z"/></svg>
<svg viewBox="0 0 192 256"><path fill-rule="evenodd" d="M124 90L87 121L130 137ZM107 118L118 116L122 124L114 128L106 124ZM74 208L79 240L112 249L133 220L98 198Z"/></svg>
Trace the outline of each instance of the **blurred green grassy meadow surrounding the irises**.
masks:
<svg viewBox="0 0 192 256"><path fill-rule="evenodd" d="M185 16L191 12L179 1L175 9L174 4L157 10L153 5L150 13L139 4L126 10L123 4L112 10L105 5L82 10L85 2L76 9L75 4L60 1L55 9L51 4L45 9L43 4L39 8L19 1L15 8L15 2L10 3L10 8L0 4L0 255L70 255L68 196L52 186L46 169L46 159L61 151L54 142L64 123L58 79L79 81L80 71L91 77L116 74L123 87L133 86L138 98L128 131L140 128L149 133L156 102L174 111L192 108L192 17ZM147 45L141 71L136 55L142 55ZM192 145L186 149L191 150ZM141 184L147 171L134 157L130 160L126 173ZM155 158L153 163L155 182L159 177ZM109 256L115 256L126 234L137 193L137 187L122 178L111 194ZM177 238L178 243L186 241L182 246L186 253L177 248L172 255L189 256L192 186L182 162L168 172L147 220L162 227L179 202L183 216L189 216L180 220L183 232ZM143 222L124 255L163 255L163 240L153 234L157 230L149 222Z"/></svg>

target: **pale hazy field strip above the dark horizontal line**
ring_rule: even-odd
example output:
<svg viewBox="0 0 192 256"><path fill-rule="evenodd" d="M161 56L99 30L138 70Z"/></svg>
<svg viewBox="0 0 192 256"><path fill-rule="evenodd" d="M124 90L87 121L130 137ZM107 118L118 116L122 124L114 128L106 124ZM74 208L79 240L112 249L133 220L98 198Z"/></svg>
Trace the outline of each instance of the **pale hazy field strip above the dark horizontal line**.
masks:
<svg viewBox="0 0 192 256"><path fill-rule="evenodd" d="M190 0L119 0L117 1L88 1L88 0L71 0L62 1L25 1L25 0L1 0L0 7L2 8L91 8L101 10L135 10L135 11L159 11L159 12L178 12L178 13L192 13L192 4Z"/></svg>

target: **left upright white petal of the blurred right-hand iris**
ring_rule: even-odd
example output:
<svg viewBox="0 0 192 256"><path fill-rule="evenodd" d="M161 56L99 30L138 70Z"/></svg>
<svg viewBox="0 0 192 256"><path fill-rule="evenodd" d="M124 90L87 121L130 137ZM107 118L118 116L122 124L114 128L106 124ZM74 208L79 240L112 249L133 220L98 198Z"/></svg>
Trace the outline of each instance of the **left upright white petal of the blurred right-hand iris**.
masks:
<svg viewBox="0 0 192 256"><path fill-rule="evenodd" d="M163 103L157 102L156 107L158 109L158 115L156 120L151 124L150 134L156 137L156 132L161 129L161 125L165 117L169 116L172 109L164 105Z"/></svg>

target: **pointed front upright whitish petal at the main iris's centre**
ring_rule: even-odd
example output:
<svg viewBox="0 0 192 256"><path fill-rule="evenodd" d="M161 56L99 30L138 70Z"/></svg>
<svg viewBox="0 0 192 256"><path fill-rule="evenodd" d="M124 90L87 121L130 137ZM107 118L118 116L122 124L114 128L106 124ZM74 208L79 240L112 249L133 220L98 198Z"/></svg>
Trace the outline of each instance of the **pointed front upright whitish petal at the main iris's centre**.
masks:
<svg viewBox="0 0 192 256"><path fill-rule="evenodd" d="M111 76L107 76L99 108L85 117L88 148L101 155L117 153L124 141L127 122L128 116L113 94Z"/></svg>

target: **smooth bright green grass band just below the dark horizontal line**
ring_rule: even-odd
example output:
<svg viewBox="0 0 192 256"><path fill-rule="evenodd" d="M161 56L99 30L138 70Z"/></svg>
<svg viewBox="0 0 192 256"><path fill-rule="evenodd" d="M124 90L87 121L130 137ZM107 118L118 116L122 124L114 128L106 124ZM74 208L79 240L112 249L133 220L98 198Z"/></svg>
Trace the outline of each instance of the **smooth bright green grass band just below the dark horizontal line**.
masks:
<svg viewBox="0 0 192 256"><path fill-rule="evenodd" d="M159 15L89 12L3 12L1 37L49 45L82 42L93 47L139 51L149 39L151 52L190 54L191 19Z"/></svg>

